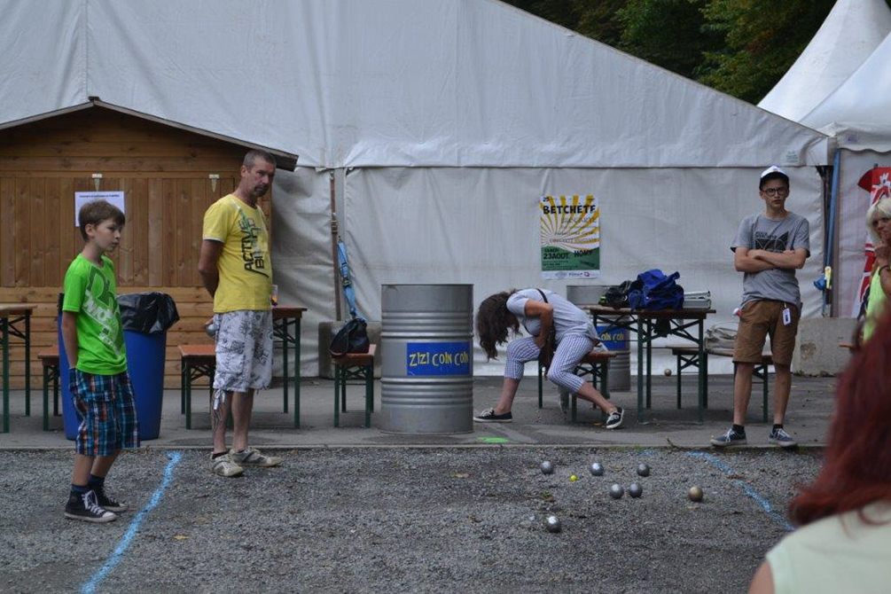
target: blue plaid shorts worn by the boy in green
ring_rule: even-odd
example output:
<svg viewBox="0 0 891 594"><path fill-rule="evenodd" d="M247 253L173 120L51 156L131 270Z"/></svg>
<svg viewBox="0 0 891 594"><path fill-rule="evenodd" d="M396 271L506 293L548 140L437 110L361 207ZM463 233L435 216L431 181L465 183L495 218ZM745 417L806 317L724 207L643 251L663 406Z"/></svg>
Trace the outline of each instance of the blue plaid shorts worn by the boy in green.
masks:
<svg viewBox="0 0 891 594"><path fill-rule="evenodd" d="M121 448L139 447L136 403L127 371L101 376L70 370L69 387L80 421L75 452L111 456Z"/></svg>

